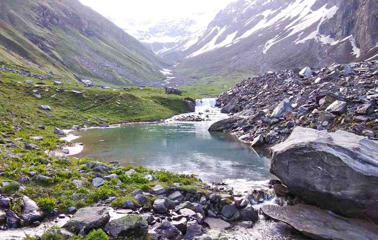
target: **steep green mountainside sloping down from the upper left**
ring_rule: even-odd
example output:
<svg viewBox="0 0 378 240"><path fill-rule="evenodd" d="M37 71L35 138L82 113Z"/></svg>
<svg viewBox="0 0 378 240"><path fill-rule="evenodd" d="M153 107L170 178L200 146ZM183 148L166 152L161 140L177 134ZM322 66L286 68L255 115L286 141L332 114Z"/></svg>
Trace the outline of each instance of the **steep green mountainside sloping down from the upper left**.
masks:
<svg viewBox="0 0 378 240"><path fill-rule="evenodd" d="M0 1L0 46L0 60L102 85L157 85L168 65L78 0Z"/></svg>

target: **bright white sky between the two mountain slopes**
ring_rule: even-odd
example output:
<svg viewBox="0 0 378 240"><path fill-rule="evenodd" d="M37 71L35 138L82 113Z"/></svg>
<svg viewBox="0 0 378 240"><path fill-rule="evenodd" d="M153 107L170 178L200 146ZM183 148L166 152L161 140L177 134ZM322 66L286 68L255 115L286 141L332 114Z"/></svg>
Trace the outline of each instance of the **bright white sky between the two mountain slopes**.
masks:
<svg viewBox="0 0 378 240"><path fill-rule="evenodd" d="M213 14L233 0L80 0L100 14L136 21L173 20L197 13Z"/></svg>

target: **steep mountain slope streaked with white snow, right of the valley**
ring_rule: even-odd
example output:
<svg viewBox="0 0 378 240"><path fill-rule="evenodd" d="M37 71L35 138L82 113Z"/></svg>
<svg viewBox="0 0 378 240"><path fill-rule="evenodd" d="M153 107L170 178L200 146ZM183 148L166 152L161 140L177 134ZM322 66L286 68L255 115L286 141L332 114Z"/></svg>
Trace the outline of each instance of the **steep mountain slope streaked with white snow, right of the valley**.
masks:
<svg viewBox="0 0 378 240"><path fill-rule="evenodd" d="M159 55L198 71L260 72L373 60L378 58L377 6L378 0L238 0L190 46Z"/></svg>

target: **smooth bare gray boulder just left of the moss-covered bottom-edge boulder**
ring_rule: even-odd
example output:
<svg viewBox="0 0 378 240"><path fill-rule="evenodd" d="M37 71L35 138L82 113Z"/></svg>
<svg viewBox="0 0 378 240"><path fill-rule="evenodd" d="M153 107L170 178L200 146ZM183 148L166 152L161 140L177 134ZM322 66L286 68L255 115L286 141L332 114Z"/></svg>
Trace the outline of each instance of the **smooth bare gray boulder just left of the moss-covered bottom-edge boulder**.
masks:
<svg viewBox="0 0 378 240"><path fill-rule="evenodd" d="M109 222L110 215L106 207L84 207L77 210L74 217L63 228L78 232L101 228Z"/></svg>

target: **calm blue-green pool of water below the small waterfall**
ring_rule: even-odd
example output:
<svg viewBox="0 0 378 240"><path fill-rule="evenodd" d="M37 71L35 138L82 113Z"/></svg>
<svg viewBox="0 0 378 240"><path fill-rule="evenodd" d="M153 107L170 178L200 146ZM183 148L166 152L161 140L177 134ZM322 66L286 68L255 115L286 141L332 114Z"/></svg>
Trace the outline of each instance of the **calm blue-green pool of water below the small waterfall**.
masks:
<svg viewBox="0 0 378 240"><path fill-rule="evenodd" d="M211 122L131 124L117 128L87 129L84 150L78 157L143 165L186 174L202 180L272 178L269 160L236 141L230 134L209 132Z"/></svg>

